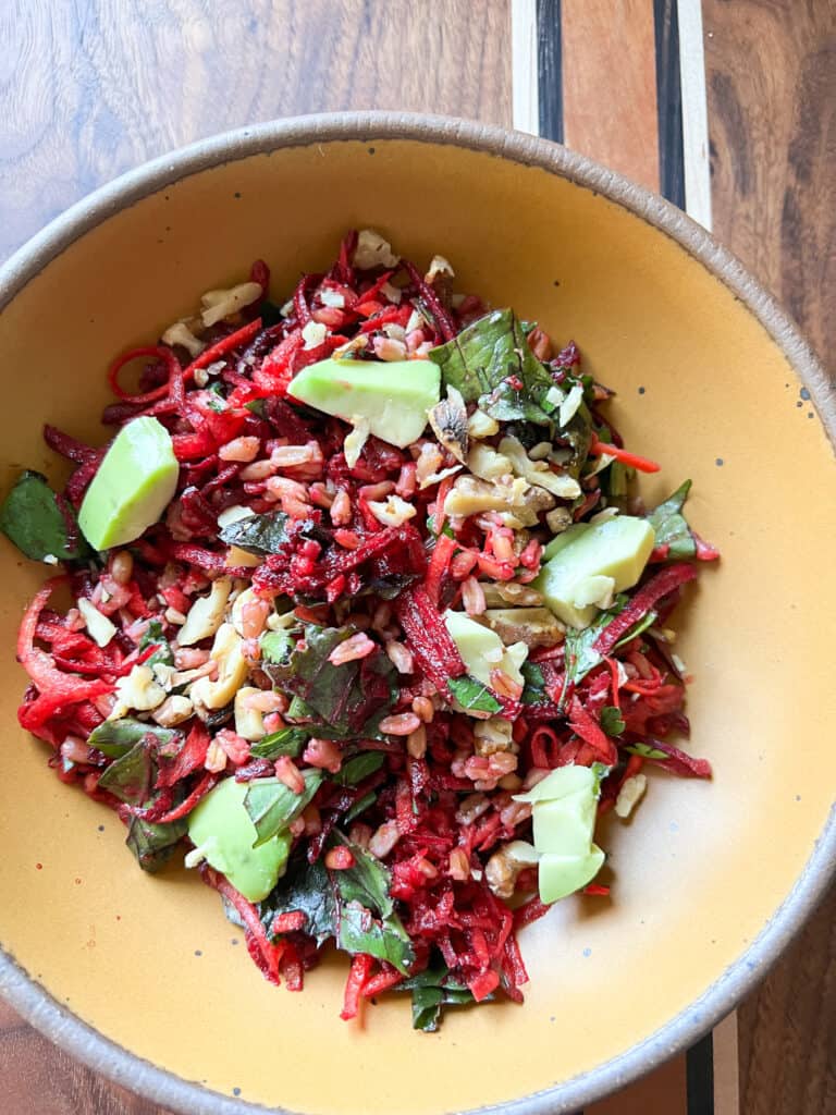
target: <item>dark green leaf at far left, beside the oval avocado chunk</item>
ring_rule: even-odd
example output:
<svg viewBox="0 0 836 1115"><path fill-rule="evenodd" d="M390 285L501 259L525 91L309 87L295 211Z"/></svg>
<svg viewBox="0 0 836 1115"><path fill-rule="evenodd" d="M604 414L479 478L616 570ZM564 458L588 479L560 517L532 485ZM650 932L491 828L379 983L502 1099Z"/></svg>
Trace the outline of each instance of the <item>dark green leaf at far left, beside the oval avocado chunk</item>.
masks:
<svg viewBox="0 0 836 1115"><path fill-rule="evenodd" d="M27 469L0 506L0 531L33 561L43 561L49 555L58 561L78 561L90 550L66 501L64 508L67 517L46 476ZM72 526L72 541L67 530L68 520Z"/></svg>

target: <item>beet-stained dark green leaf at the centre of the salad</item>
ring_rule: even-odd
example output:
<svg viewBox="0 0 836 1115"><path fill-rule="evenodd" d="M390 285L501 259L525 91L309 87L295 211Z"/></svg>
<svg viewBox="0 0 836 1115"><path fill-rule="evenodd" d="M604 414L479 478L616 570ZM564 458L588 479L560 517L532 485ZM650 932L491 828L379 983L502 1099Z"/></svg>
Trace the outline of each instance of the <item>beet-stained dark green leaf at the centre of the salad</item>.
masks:
<svg viewBox="0 0 836 1115"><path fill-rule="evenodd" d="M317 734L333 739L373 737L397 692L395 667L381 649L368 658L334 666L331 652L354 633L350 627L305 630L304 650L286 665L268 665L273 682L304 704L289 715L317 723Z"/></svg>

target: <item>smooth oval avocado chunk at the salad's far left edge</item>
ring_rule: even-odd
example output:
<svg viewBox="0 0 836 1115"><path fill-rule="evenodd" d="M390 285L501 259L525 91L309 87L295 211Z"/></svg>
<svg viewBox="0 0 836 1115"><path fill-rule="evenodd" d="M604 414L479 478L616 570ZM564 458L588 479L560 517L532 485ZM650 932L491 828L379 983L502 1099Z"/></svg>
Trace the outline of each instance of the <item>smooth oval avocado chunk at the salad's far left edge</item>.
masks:
<svg viewBox="0 0 836 1115"><path fill-rule="evenodd" d="M81 503L78 525L95 550L134 542L159 518L179 465L156 418L134 418L114 438Z"/></svg>

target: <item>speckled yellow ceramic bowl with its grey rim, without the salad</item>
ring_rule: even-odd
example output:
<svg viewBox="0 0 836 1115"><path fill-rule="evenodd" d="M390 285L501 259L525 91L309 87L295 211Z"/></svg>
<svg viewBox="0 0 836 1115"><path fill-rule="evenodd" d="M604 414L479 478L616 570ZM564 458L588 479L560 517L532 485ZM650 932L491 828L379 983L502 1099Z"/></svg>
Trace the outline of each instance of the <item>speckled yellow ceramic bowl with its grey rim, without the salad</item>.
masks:
<svg viewBox="0 0 836 1115"><path fill-rule="evenodd" d="M830 633L834 390L784 313L701 229L562 147L456 120L348 115L222 136L140 168L54 222L0 277L0 454L59 467L40 429L103 440L104 369L195 294L273 268L274 292L372 225L461 290L512 303L616 388L628 443L663 463L650 498L694 482L722 550L678 652L696 680L690 748L711 783L653 776L605 827L611 900L573 898L522 935L525 1006L416 1034L390 1000L338 1018L344 967L269 986L217 895L142 874L115 817L62 786L18 729L13 661L42 570L2 541L0 990L94 1068L212 1115L557 1115L688 1046L762 975L834 863ZM250 1106L253 1105L253 1106Z"/></svg>

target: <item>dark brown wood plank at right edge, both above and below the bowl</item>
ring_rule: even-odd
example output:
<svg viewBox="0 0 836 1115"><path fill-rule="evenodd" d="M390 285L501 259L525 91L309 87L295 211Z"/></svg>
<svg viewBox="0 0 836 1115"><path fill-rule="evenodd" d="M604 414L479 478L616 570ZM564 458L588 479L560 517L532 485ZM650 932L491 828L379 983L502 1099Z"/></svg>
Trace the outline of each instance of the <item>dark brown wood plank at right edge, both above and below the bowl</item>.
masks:
<svg viewBox="0 0 836 1115"><path fill-rule="evenodd" d="M706 0L715 232L836 358L836 3ZM836 890L739 1010L743 1115L836 1112Z"/></svg>

